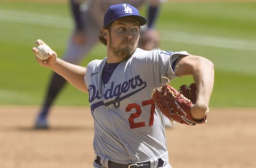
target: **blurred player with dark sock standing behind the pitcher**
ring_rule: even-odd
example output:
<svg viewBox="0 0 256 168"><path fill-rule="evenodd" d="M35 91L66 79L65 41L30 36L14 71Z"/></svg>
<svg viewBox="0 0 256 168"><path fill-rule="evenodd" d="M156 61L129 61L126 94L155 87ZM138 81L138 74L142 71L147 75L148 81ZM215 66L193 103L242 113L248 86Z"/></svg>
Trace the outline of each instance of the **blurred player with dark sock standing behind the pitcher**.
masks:
<svg viewBox="0 0 256 168"><path fill-rule="evenodd" d="M102 28L103 15L108 7L123 2L130 3L137 8L140 8L142 5L147 5L148 23L142 28L138 47L146 50L157 48L159 45L159 36L154 26L162 1L163 0L70 0L70 10L75 22L75 28L68 40L67 50L62 59L73 64L79 64L91 49L99 43L98 35ZM50 113L50 108L66 82L67 81L57 73L52 74L43 105L36 116L34 125L36 129L49 128L47 118ZM170 126L169 119L166 121L167 126Z"/></svg>

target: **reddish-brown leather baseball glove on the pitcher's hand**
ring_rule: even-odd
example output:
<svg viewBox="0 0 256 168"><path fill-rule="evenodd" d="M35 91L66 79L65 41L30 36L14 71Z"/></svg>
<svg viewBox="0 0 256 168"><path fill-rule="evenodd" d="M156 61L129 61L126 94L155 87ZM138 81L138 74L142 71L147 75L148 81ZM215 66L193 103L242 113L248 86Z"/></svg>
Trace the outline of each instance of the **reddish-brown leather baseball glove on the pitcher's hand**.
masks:
<svg viewBox="0 0 256 168"><path fill-rule="evenodd" d="M196 85L182 85L179 91L172 86L162 85L155 88L152 93L152 97L159 108L159 110L167 116L171 122L176 121L179 123L185 123L187 125L196 125L198 123L206 122L206 115L202 120L195 120L191 116L191 107L196 102Z"/></svg>

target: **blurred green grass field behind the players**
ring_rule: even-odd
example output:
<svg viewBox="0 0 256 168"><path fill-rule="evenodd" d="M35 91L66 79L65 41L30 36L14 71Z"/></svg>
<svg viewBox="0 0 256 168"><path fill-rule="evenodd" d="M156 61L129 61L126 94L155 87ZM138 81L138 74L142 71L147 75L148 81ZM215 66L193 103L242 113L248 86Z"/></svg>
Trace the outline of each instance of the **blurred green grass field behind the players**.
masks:
<svg viewBox="0 0 256 168"><path fill-rule="evenodd" d="M18 15L14 17L13 12ZM38 20L31 21L35 14L40 15L38 18L45 14L64 20L44 18L42 25ZM162 37L162 49L202 55L214 63L210 106L255 107L255 21L256 3L253 2L165 3L156 29ZM31 49L35 40L41 38L61 57L72 25L67 3L0 2L0 105L42 103L52 72L36 63ZM215 39L219 41L214 42ZM106 48L99 44L81 64L105 56ZM177 78L172 85L178 88L191 81L191 77ZM55 104L88 105L87 97L67 85Z"/></svg>

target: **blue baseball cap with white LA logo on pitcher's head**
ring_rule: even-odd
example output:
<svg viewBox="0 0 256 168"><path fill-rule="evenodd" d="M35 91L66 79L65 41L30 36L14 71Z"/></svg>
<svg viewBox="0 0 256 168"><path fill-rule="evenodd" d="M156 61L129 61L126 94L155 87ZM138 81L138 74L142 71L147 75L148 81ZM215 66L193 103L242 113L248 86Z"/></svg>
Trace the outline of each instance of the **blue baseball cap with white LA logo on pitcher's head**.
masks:
<svg viewBox="0 0 256 168"><path fill-rule="evenodd" d="M138 9L130 4L117 4L109 6L104 15L103 27L107 27L110 23L117 19L131 16L139 21L140 26L147 23L147 19L140 15Z"/></svg>

